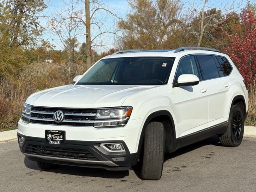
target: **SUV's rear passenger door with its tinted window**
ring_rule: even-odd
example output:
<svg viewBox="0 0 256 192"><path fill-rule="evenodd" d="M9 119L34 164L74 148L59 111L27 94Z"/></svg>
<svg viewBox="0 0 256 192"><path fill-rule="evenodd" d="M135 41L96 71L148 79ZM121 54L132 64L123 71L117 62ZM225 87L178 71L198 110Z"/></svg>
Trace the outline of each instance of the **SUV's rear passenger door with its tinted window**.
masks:
<svg viewBox="0 0 256 192"><path fill-rule="evenodd" d="M209 102L209 127L216 126L227 120L226 109L229 108L227 92L230 85L228 71L224 74L224 69L218 60L223 58L214 55L196 55L202 79L206 83Z"/></svg>

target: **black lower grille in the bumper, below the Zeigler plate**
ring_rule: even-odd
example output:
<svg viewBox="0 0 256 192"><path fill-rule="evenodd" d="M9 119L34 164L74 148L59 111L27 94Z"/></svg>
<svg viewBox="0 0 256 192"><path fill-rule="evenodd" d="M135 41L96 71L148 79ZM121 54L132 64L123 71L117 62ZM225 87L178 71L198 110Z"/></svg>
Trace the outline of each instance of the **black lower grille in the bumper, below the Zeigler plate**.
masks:
<svg viewBox="0 0 256 192"><path fill-rule="evenodd" d="M92 153L85 149L28 145L25 153L48 157L98 161Z"/></svg>

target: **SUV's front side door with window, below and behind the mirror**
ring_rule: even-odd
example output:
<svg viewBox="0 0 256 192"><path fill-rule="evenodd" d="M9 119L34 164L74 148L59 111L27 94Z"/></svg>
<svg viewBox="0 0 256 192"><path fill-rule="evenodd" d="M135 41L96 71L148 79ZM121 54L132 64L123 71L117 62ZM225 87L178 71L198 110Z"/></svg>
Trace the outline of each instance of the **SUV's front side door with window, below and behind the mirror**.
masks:
<svg viewBox="0 0 256 192"><path fill-rule="evenodd" d="M180 59L174 83L182 74L194 74L201 78L200 70L194 55ZM208 128L208 94L206 82L200 81L195 86L174 87L176 116L178 119L178 137Z"/></svg>

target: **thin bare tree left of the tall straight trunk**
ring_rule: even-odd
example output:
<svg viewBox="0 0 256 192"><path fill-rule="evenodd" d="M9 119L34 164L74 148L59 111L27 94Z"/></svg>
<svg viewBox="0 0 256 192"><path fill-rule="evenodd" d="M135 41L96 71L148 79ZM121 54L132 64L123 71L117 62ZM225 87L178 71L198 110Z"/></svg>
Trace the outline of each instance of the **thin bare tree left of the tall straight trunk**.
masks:
<svg viewBox="0 0 256 192"><path fill-rule="evenodd" d="M64 61L56 64L66 70L68 83L70 83L73 77L71 68L79 59L79 52L76 51L79 45L77 38L82 35L84 26L77 18L82 17L83 10L77 9L79 7L79 0L63 1L63 3L68 9L56 10L56 12L52 14L48 26L52 32L58 36L58 40L63 46L63 51L66 52Z"/></svg>

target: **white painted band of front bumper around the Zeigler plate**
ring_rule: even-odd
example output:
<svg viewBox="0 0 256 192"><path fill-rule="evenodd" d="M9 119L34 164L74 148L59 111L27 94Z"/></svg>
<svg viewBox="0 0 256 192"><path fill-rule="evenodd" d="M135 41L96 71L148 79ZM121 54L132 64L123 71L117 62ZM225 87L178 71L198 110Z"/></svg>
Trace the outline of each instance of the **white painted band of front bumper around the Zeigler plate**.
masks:
<svg viewBox="0 0 256 192"><path fill-rule="evenodd" d="M66 132L66 140L75 141L108 141L122 140L125 142L130 153L136 153L138 150L138 138L140 138L140 127L143 119L129 120L124 127L115 128L95 128L82 126L61 126L26 123L22 120L18 122L18 133L44 138L45 130L60 130Z"/></svg>

